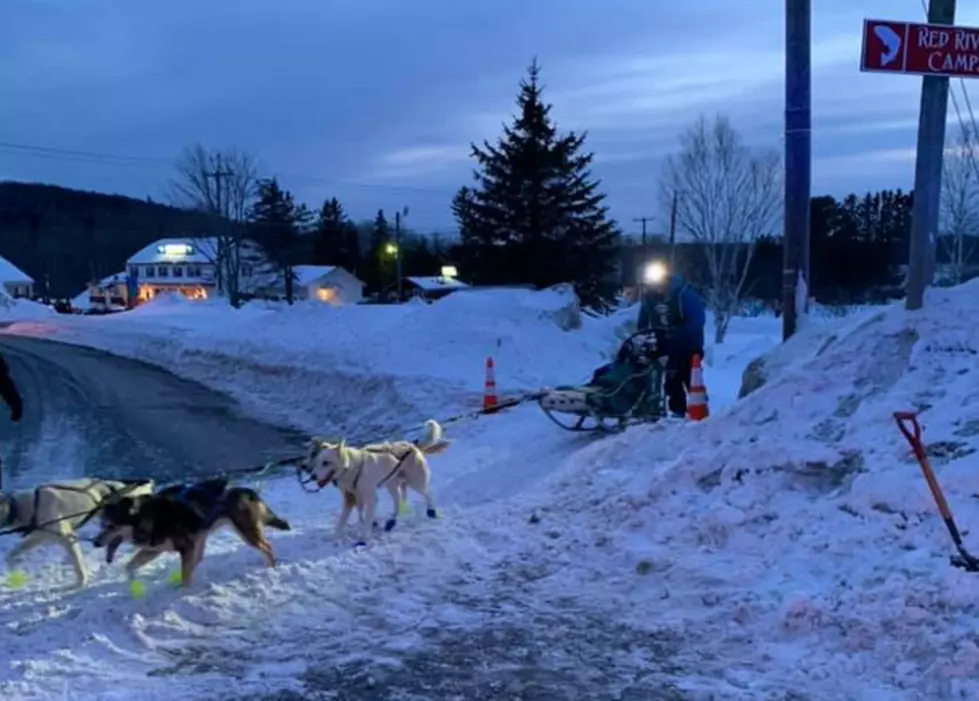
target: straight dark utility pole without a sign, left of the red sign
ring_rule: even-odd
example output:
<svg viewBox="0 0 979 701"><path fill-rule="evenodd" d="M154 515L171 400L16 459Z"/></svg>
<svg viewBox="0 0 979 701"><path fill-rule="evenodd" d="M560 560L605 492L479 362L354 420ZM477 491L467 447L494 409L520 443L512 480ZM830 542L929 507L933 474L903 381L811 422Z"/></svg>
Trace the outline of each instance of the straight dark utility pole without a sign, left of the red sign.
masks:
<svg viewBox="0 0 979 701"><path fill-rule="evenodd" d="M809 201L812 190L812 8L785 0L785 220L782 239L782 341L809 298Z"/></svg>

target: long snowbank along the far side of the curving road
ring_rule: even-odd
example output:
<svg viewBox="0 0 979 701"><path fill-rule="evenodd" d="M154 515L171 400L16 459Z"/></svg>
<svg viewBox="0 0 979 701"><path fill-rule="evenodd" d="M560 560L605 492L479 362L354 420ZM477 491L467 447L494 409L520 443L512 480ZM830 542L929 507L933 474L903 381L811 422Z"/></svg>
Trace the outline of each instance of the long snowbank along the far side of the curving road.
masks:
<svg viewBox="0 0 979 701"><path fill-rule="evenodd" d="M376 435L477 408L487 357L504 394L582 382L614 352L618 323L582 318L570 288L553 288L340 308L255 302L234 310L221 300L160 297L124 314L8 331L162 365L305 431Z"/></svg>

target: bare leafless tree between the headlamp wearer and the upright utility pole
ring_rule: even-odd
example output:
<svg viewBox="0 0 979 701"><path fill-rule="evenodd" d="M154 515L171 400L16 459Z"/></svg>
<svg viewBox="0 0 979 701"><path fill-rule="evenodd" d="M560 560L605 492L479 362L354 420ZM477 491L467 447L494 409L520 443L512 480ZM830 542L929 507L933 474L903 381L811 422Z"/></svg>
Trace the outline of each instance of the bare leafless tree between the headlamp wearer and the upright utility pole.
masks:
<svg viewBox="0 0 979 701"><path fill-rule="evenodd" d="M781 157L744 145L723 116L703 116L680 137L660 181L664 204L677 195L676 224L707 257L707 304L714 341L722 343L745 292L759 237L778 233L782 221Z"/></svg>

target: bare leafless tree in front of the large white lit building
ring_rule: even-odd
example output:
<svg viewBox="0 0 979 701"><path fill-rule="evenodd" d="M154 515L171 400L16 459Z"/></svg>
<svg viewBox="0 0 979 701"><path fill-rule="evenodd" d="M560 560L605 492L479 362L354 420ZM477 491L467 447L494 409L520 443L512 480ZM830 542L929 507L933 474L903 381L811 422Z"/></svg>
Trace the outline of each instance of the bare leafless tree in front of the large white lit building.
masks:
<svg viewBox="0 0 979 701"><path fill-rule="evenodd" d="M171 181L174 204L210 215L208 236L200 250L214 264L215 285L238 306L241 296L245 220L258 192L254 157L237 149L208 150L188 146L176 163Z"/></svg>

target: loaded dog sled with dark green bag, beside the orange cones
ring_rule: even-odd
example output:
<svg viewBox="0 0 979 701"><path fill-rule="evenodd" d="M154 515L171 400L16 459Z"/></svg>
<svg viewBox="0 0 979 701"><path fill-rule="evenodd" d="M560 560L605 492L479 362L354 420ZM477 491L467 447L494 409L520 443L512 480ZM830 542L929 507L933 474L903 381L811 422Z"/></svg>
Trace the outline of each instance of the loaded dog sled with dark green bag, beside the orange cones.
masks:
<svg viewBox="0 0 979 701"><path fill-rule="evenodd" d="M657 352L655 333L627 338L613 362L600 367L580 386L542 392L537 403L566 431L616 433L628 426L659 421L666 415L663 379L665 357Z"/></svg>

